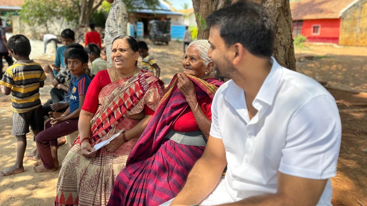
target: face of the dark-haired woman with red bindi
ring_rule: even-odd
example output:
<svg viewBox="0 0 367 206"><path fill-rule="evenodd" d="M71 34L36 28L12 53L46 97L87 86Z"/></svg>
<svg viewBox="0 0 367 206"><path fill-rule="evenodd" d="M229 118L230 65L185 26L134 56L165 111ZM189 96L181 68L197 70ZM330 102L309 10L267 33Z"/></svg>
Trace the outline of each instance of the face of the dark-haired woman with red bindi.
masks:
<svg viewBox="0 0 367 206"><path fill-rule="evenodd" d="M130 69L134 67L138 57L138 52L132 51L125 39L120 38L113 42L111 59L116 69Z"/></svg>

